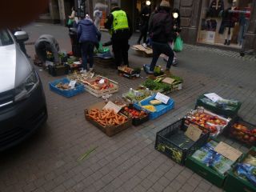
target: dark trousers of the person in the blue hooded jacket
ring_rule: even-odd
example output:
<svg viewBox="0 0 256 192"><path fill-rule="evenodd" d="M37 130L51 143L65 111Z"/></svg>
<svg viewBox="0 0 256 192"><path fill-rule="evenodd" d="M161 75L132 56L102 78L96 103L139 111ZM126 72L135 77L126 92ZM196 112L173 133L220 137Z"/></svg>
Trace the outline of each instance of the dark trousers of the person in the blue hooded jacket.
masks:
<svg viewBox="0 0 256 192"><path fill-rule="evenodd" d="M94 42L82 42L82 67L83 70L87 69L87 58L89 58L90 68L94 66Z"/></svg>

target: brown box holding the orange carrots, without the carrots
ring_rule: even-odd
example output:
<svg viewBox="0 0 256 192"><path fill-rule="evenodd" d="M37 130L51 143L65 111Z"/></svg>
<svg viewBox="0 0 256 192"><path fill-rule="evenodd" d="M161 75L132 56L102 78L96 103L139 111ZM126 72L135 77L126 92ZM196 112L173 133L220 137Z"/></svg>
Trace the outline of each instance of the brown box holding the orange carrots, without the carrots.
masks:
<svg viewBox="0 0 256 192"><path fill-rule="evenodd" d="M87 114L88 111L91 109L98 109L102 110L102 108L106 106L105 102L98 102L94 104L93 106L90 106L88 109L85 110L85 118L88 122L91 122L94 126L97 126L99 130L102 130L103 133L105 133L107 136L112 137L114 134L118 134L122 130L126 130L130 126L132 126L132 119L128 118L126 115L122 114L126 118L128 118L128 121L119 125L119 126L102 126L100 123L95 122L94 119L90 118ZM120 114L120 113L119 113Z"/></svg>

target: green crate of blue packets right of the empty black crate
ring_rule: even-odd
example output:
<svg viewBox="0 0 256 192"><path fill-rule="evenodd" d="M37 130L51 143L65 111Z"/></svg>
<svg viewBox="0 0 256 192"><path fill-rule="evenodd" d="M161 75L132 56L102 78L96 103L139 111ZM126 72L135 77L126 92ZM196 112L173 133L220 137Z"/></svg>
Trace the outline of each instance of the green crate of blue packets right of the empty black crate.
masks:
<svg viewBox="0 0 256 192"><path fill-rule="evenodd" d="M214 151L217 145L217 140L211 139L188 157L185 165L215 186L222 187L234 162Z"/></svg>

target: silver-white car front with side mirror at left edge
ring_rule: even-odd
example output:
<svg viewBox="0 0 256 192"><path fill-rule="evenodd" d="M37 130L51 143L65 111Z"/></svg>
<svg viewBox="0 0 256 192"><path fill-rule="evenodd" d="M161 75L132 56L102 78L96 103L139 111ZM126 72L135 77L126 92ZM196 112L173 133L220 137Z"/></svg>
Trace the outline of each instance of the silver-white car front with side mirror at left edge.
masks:
<svg viewBox="0 0 256 192"><path fill-rule="evenodd" d="M28 34L0 30L0 151L22 142L47 119L42 83L16 41Z"/></svg>

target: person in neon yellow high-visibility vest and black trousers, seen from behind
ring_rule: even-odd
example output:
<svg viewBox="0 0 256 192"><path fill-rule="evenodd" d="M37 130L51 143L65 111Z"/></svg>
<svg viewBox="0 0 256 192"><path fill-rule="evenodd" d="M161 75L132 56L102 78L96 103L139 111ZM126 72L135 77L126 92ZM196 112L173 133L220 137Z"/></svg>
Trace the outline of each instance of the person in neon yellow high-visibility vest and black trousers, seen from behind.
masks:
<svg viewBox="0 0 256 192"><path fill-rule="evenodd" d="M111 3L111 13L107 16L104 26L110 30L111 42L116 66L129 66L128 50L129 38L133 29L130 19L124 10L118 7L118 3Z"/></svg>

